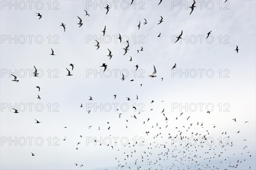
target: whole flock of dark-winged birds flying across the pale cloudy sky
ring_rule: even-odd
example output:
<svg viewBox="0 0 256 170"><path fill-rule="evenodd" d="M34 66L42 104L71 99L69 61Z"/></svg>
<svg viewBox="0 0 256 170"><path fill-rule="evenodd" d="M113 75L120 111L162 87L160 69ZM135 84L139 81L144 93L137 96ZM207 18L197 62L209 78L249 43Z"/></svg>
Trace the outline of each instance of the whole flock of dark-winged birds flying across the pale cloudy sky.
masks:
<svg viewBox="0 0 256 170"><path fill-rule="evenodd" d="M225 0L226 2L227 0ZM134 2L134 0L131 1L131 4ZM224 2L224 3L225 3ZM160 5L162 3L162 0L160 0L159 4ZM193 3L192 3L192 6L190 6L189 8L191 8L191 12L190 14L192 14L192 12L194 11L194 8L195 8L195 0L193 0ZM106 14L108 14L108 12L110 11L110 6L107 5L104 7L106 9ZM86 10L84 10L86 13L85 15L90 17L90 14L88 14L88 12ZM39 17L39 20L42 18L42 14L40 13L36 13L37 16ZM190 15L189 14L189 15ZM82 19L80 17L78 17L79 19L79 23L77 23L79 25L79 28L81 26L83 26L83 23L82 23ZM148 22L147 20L144 18L145 22L143 23L144 25L146 25ZM160 16L160 20L159 20L159 24L163 23L163 17ZM138 29L140 29L140 26L141 23L139 22L139 25L137 25ZM66 25L64 23L61 23L61 25L63 28L64 28L64 32L66 31ZM105 33L106 33L106 25L103 29L103 36L105 36ZM212 31L209 31L207 33L207 37L209 37L209 35L211 34ZM174 42L178 42L180 39L182 39L182 34L183 34L183 30L181 30L181 33L180 35L177 37L177 40ZM157 36L157 37L160 37L161 33ZM119 34L119 37L118 39L120 40L120 43L122 42L122 36ZM96 41L96 50L98 50L100 48L100 43ZM128 50L129 50L129 41L126 41L127 43L127 46L125 48L123 48L123 50L125 51L123 55L125 55ZM139 53L140 51L143 51L143 47L141 47L141 49L137 50L137 53ZM238 53L239 51L239 48L238 46L236 45L236 49L235 51ZM113 57L112 55L112 52L110 49L108 49L108 57L110 57L109 59L111 59ZM54 56L54 51L51 49L51 54L49 55L52 55ZM133 61L132 60L132 57L130 57L130 62ZM73 76L73 74L70 73L70 70L73 71L74 69L74 65L73 64L70 64L69 66L71 66L70 69L66 68L67 69L67 76ZM102 65L100 65L100 67L104 68L103 71L105 71L108 67L108 65L106 63L103 63ZM135 65L136 67L136 71L137 69L139 68L139 65ZM155 66L153 65L154 67L154 71L151 75L149 75L149 77L151 78L154 78L154 77L157 77L156 73L157 73L157 70L155 68ZM34 77L38 77L38 71L37 71L37 68L34 66L35 68L35 71L33 72L33 76ZM176 63L174 64L174 66L172 67L172 69L176 68ZM14 79L12 81L14 82L19 82L19 80L17 79L17 77L14 75L14 74L11 74ZM121 77L122 81L125 80L125 76L124 74L122 74L122 77ZM133 81L133 80L131 80ZM163 77L161 77L161 81L163 81ZM140 87L142 87L142 84L140 84ZM40 86L36 86L36 88L38 88L38 91L40 91ZM116 99L117 95L114 94L113 95L114 98L113 99ZM41 97L38 95L37 97L38 99L41 99ZM126 97L128 101L131 100L130 97ZM135 99L139 99L138 95ZM89 96L89 99L88 100L93 100L93 98L91 96ZM155 102L154 100L151 101L151 104ZM161 101L163 102L163 101ZM80 104L79 104L80 105ZM81 105L79 106L80 108L83 107L83 104L81 103ZM137 108L135 106L133 106L133 109L136 111ZM17 109L14 109L14 113L19 113ZM153 109L151 109L150 111L152 111ZM118 109L117 109L118 111ZM88 114L91 112L91 110L87 111ZM156 111L156 114L158 111ZM207 111L206 113L209 113L209 111ZM120 157L120 158L113 158L116 160L116 169L118 168L123 168L123 169L141 169L142 166L143 167L148 167L147 169L148 170L151 170L153 169L152 167L154 167L155 169L179 169L180 166L183 166L184 164L186 165L186 168L187 169L223 169L223 163L227 163L227 161L230 161L228 165L228 167L226 168L239 168L239 164L241 162L244 162L246 161L246 159L243 159L243 160L237 160L236 162L232 162L232 156L226 156L225 155L225 152L227 150L232 150L230 149L230 147L233 146L233 142L229 142L227 145L224 145L224 141L220 141L221 143L221 148L220 148L220 151L217 151L217 148L218 148L218 144L215 144L215 145L212 145L210 147L207 148L207 150L204 149L204 145L202 144L205 144L206 141L208 140L208 136L211 135L211 133L214 132L214 129L216 127L216 125L213 125L212 126L212 129L207 129L207 130L203 130L203 131L200 131L200 132L195 132L193 130L193 127L201 127L204 128L205 125L204 125L204 122L189 122L189 118L190 116L188 115L187 117L184 117L186 115L186 113L176 113L178 114L176 116L176 114L174 114L175 116L173 116L172 118L170 118L170 116L168 116L166 113L165 113L165 109L163 108L162 111L159 111L159 114L163 116L162 118L162 122L152 122L153 120L151 120L151 118L147 118L145 120L143 120L143 122L140 122L142 125L143 124L149 124L149 126L151 128L154 128L154 129L162 129L162 128L167 128L168 126L172 126L172 124L169 122L170 120L181 120L183 122L187 122L183 125L180 125L178 127L172 127L172 132L170 133L162 133L162 131L159 130L158 133L156 134L152 134L151 135L151 130L146 130L145 131L145 138L151 138L151 140L153 140L154 142L150 142L150 143L145 143L145 148L146 150L144 150L142 153L138 154L137 152L139 152L138 150L136 150L136 144L127 144L127 147L128 150L126 150L124 153L123 153L123 157ZM121 118L122 113L119 113L118 115L118 118ZM167 117L168 116L168 117ZM128 124L128 121L131 121L131 119L133 120L138 120L140 118L143 119L143 115L138 112L138 113L135 113L133 115L130 116L131 118L130 119L124 119L122 120L123 122L127 123ZM37 119L35 119L35 123L39 124L39 123L42 123L42 122L39 122ZM234 122L236 122L236 118L233 119ZM107 124L110 124L110 122L106 122ZM245 123L248 123L248 121L246 121ZM88 126L88 129L90 129L92 126ZM64 127L64 128L67 128L67 127ZM111 126L108 126L108 128L106 130L110 130ZM128 125L125 125L125 128L128 128ZM100 127L98 127L98 130L101 130ZM138 129L139 130L139 129ZM186 133L186 135L184 136L183 134ZM240 131L238 131L237 133L240 133ZM186 143L185 145L182 145L182 144L176 144L175 142L173 142L173 140L171 139L180 139L180 140L184 140L184 139L189 139L191 137L189 137L189 134L191 135L191 137L195 137L195 136L200 136L201 137L201 142L200 144L197 144L196 146L193 146L192 144L190 143ZM222 132L221 135L227 135L227 132ZM82 136L80 135L79 136L80 138L82 138ZM165 142L162 142L160 143L157 142L156 140L157 139L163 139ZM228 138L230 138L230 136L228 136ZM63 141L66 141L66 136L64 137ZM246 141L246 139L244 139L244 141ZM94 142L97 142L97 141L94 141ZM194 139L194 142L198 142L198 139ZM211 141L212 142L212 141ZM78 146L81 144L81 142L77 142L76 143L76 147L74 149L78 150ZM99 146L101 146L102 143L99 144ZM178 146L177 146L178 145ZM180 147L180 146L181 147ZM114 147L113 145L110 146L111 149L113 150ZM154 150L154 148L157 148L157 150ZM160 148L160 149L159 149ZM244 152L241 153L241 155L244 155L245 157L251 157L251 155L249 154L249 151L245 151L245 149L247 148L247 146L245 146L243 148ZM117 151L121 151L121 150L117 150ZM202 153L200 152L204 152L203 155L201 155ZM135 155L136 153L136 155ZM35 156L34 153L31 153L32 155L31 156ZM235 155L235 153L233 154ZM222 161L220 162L217 162L217 160L219 158L222 158ZM166 163L164 163L166 161ZM215 161L215 165L213 164L210 164L211 161ZM145 163L144 163L145 162ZM79 166L79 164L77 163L73 163L75 166ZM129 164L129 165L128 165ZM131 167L133 164L133 167ZM224 164L226 165L226 164ZM80 167L82 167L83 164L80 165ZM103 165L104 166L104 165ZM250 169L250 167L248 167Z"/></svg>

